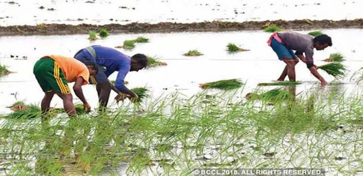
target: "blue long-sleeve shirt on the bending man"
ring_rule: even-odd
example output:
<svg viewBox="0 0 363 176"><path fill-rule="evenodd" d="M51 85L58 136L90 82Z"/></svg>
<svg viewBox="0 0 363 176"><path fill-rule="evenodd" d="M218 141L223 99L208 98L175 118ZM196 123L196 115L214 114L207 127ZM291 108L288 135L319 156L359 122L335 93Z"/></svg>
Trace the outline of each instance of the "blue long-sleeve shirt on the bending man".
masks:
<svg viewBox="0 0 363 176"><path fill-rule="evenodd" d="M82 53L85 57L106 68L104 72L108 77L113 72L118 71L115 81L115 87L119 91L125 91L127 87L124 84L125 77L131 68L131 57L125 55L113 48L108 48L100 45L91 46L95 53L91 53L89 49L85 48ZM77 54L76 54L77 55ZM94 57L96 55L96 58Z"/></svg>

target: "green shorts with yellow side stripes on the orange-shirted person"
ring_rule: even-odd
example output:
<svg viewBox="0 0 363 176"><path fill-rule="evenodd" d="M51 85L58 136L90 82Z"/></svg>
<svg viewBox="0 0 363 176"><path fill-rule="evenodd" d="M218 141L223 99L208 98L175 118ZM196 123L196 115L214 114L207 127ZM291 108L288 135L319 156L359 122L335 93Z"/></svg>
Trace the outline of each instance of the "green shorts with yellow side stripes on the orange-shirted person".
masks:
<svg viewBox="0 0 363 176"><path fill-rule="evenodd" d="M71 94L61 67L53 59L47 57L39 59L34 65L33 72L43 92Z"/></svg>

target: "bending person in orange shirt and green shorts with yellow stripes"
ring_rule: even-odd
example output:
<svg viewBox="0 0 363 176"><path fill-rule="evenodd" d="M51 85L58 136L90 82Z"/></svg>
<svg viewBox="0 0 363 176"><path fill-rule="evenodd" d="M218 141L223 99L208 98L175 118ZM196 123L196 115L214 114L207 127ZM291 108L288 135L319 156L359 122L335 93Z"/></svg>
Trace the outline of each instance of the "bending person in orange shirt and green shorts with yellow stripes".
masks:
<svg viewBox="0 0 363 176"><path fill-rule="evenodd" d="M90 75L97 73L97 65L93 62L82 63L74 58L48 55L39 59L33 69L41 89L45 93L41 102L42 112L45 113L50 106L54 94L63 100L64 109L69 116L76 115L76 109L72 102L71 90L67 82L75 82L73 90L76 96L83 102L87 112L91 107L87 103L82 85L88 83Z"/></svg>

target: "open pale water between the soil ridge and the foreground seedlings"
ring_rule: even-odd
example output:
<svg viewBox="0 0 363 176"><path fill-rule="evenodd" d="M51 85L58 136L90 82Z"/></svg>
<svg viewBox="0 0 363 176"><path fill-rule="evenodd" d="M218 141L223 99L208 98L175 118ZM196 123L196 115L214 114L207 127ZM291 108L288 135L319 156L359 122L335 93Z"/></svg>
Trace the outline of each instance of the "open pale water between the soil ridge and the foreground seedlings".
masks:
<svg viewBox="0 0 363 176"><path fill-rule="evenodd" d="M301 31L307 33L308 31ZM315 64L325 64L321 60L327 58L330 53L341 52L346 56L345 64L351 72L344 79L343 84L332 84L322 89L323 91L351 91L360 90L349 78L352 73L363 66L363 54L359 49L363 45L360 40L363 33L360 29L325 30L324 33L332 36L333 46L324 51L316 51ZM8 65L11 73L0 77L0 113L9 113L6 108L19 100L26 103L39 104L43 92L32 74L34 63L38 58L47 54L61 54L72 57L79 49L89 45L104 45L114 47L122 45L124 40L137 36L150 38L150 43L137 44L133 50L120 51L133 55L145 53L158 56L166 62L167 66L150 68L139 72L130 72L126 80L129 88L147 86L154 97L166 95L178 91L187 96L192 96L202 91L199 83L220 79L240 78L246 81L244 93L257 88L259 82L270 82L277 79L284 64L277 60L277 56L266 40L269 33L261 31L228 32L228 33L170 33L170 34L120 34L111 35L106 39L90 42L87 35L68 36L16 36L0 37L0 62ZM251 51L229 54L225 51L225 45L233 42L242 48ZM199 57L183 56L188 50L198 49L204 55ZM14 55L11 58L11 55ZM18 58L16 57L18 56ZM23 56L26 59L23 59ZM333 81L332 76L319 71L327 81ZM114 80L117 73L109 78ZM297 80L303 83L296 86L296 92L302 92L312 87L320 90L317 79L309 72L306 65L300 62L296 66ZM73 84L71 83L70 86ZM266 87L264 89L271 89ZM97 105L97 94L93 85L83 86L85 96L94 108ZM113 104L111 94L109 104ZM245 96L245 95L241 95ZM75 102L80 102L74 96ZM61 99L54 97L51 106L62 107Z"/></svg>

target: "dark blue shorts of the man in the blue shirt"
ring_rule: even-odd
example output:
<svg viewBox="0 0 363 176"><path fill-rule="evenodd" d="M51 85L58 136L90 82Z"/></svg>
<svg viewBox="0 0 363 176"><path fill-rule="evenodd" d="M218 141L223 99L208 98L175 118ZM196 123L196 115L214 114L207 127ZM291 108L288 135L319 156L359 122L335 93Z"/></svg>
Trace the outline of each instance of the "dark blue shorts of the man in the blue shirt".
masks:
<svg viewBox="0 0 363 176"><path fill-rule="evenodd" d="M76 53L76 55L74 56L75 59L84 62L86 60L92 61L91 59L89 59L86 54L84 53L83 50L80 50ZM96 63L97 64L97 63ZM98 64L97 64L98 65ZM98 66L97 69L97 74L94 76L90 76L89 78L89 83L90 84L99 84L99 83L103 83L106 80L108 80L106 74L104 73L104 68L101 66Z"/></svg>

